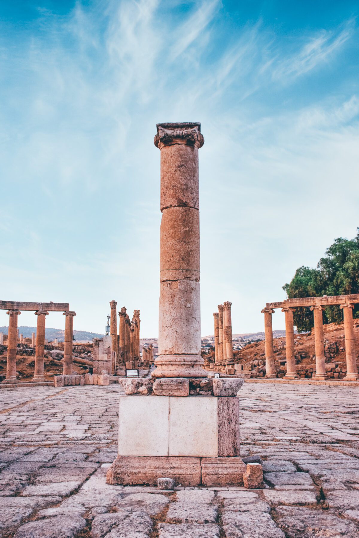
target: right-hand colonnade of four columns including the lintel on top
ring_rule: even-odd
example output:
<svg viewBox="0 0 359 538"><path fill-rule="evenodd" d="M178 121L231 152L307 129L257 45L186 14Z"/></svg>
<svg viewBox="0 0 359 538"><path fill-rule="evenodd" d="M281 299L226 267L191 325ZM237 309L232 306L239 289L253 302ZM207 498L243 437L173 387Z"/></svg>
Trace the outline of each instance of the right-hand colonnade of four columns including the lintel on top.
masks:
<svg viewBox="0 0 359 538"><path fill-rule="evenodd" d="M287 373L284 379L298 379L299 376L295 369L294 356L294 324L293 312L295 306L310 307L313 312L314 319L314 346L315 346L315 374L313 379L326 380L328 376L325 369L325 350L323 336L323 309L330 305L339 305L343 310L344 320L344 338L346 349L347 374L343 378L344 381L356 381L359 378L356 367L355 354L355 337L353 326L353 308L354 303L359 302L358 295L333 295L316 298L300 298L288 299L280 303L267 303L263 308L264 328L265 328L265 377L277 377L274 366L273 353L273 330L272 330L272 314L274 308L281 308L281 312L285 314L285 353ZM292 306L293 305L293 306Z"/></svg>

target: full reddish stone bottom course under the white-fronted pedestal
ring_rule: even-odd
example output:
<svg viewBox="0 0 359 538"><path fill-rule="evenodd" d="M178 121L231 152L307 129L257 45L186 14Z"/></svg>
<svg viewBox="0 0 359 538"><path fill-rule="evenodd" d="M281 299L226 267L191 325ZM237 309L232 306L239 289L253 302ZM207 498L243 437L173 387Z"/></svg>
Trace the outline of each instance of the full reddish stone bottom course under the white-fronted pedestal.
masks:
<svg viewBox="0 0 359 538"><path fill-rule="evenodd" d="M107 471L107 483L156 486L168 477L182 486L243 486L247 467L240 457L117 456Z"/></svg>

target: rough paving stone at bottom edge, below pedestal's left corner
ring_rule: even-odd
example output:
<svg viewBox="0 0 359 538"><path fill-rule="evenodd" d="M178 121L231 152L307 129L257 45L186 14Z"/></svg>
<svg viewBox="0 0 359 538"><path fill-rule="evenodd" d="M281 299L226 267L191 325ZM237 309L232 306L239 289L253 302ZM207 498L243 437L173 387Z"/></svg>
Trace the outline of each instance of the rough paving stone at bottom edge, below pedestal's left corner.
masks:
<svg viewBox="0 0 359 538"><path fill-rule="evenodd" d="M96 515L91 525L92 538L147 538L152 520L145 512L120 509L112 514Z"/></svg>

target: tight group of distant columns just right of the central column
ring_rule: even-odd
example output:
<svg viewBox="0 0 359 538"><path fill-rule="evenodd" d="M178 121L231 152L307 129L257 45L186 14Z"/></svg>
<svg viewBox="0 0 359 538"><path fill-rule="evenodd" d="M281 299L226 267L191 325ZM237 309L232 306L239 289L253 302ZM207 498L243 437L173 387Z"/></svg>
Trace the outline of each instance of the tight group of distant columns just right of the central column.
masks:
<svg viewBox="0 0 359 538"><path fill-rule="evenodd" d="M214 353L215 364L228 364L233 361L233 337L232 337L232 303L225 301L218 305L218 312L214 317Z"/></svg>

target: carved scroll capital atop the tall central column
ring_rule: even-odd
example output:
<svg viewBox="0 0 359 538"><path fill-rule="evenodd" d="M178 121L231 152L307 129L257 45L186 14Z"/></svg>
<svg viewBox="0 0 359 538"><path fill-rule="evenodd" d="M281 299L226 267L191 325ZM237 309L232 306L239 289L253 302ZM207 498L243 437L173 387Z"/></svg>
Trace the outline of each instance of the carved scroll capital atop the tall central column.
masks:
<svg viewBox="0 0 359 538"><path fill-rule="evenodd" d="M202 147L205 143L200 123L158 123L154 145L161 150L165 146L186 144Z"/></svg>

